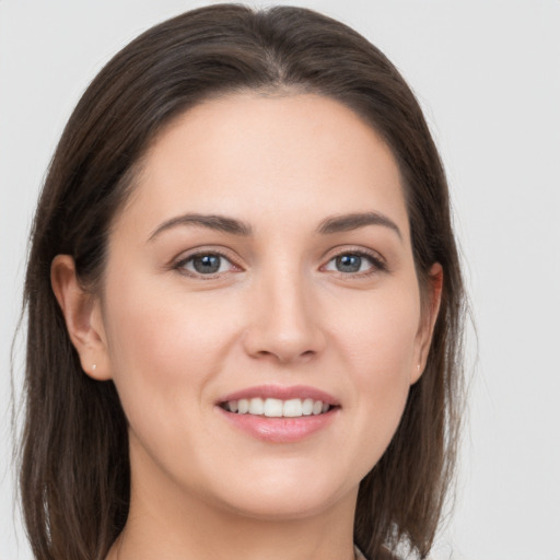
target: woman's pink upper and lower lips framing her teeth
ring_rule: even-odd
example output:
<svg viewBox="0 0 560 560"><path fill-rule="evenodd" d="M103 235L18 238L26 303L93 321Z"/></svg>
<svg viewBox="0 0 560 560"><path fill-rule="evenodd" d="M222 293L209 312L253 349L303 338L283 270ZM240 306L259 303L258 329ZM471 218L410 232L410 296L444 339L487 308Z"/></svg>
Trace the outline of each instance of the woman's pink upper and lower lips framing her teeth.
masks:
<svg viewBox="0 0 560 560"><path fill-rule="evenodd" d="M336 408L316 416L268 418L255 415L237 415L235 412L229 412L219 406L229 400L256 397L279 398L281 400L312 398L313 400L322 400ZM271 443L294 443L327 428L338 416L340 404L332 395L315 387L305 385L292 385L290 387L282 387L281 385L260 385L225 395L217 402L215 408L234 428L244 431L257 440Z"/></svg>

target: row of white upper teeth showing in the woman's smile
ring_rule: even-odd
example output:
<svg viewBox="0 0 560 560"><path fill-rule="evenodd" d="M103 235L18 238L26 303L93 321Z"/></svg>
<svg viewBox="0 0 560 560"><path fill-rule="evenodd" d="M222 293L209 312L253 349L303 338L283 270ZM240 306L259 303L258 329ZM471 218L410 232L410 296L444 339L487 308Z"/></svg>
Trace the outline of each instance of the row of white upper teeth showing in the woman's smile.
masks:
<svg viewBox="0 0 560 560"><path fill-rule="evenodd" d="M280 400L279 398L241 398L240 400L229 400L224 408L230 412L238 415L259 415L268 417L299 417L320 415L327 412L330 405L323 400L313 400L312 398L292 398L290 400Z"/></svg>

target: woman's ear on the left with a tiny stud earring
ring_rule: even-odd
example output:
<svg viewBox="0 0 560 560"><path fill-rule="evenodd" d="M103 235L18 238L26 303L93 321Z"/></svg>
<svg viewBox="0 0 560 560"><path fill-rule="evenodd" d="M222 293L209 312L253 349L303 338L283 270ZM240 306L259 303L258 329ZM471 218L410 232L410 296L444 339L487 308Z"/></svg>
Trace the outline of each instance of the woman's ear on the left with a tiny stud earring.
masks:
<svg viewBox="0 0 560 560"><path fill-rule="evenodd" d="M80 284L74 259L70 255L57 255L52 259L50 283L83 371L94 380L109 380L112 375L101 302Z"/></svg>

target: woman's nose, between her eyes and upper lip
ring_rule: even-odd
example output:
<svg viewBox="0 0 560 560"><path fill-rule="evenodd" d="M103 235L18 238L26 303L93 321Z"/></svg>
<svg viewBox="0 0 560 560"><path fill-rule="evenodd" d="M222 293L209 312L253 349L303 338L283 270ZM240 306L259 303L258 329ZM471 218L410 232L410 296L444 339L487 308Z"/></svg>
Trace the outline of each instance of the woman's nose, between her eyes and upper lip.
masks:
<svg viewBox="0 0 560 560"><path fill-rule="evenodd" d="M271 273L253 287L245 351L282 364L306 362L325 346L320 307L313 287L298 271Z"/></svg>

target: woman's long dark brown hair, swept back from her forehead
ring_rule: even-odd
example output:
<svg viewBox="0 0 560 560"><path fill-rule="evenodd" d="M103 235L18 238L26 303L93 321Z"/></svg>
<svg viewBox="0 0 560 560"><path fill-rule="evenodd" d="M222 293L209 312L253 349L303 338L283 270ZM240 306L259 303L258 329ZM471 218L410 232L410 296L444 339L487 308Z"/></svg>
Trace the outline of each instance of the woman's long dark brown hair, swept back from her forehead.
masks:
<svg viewBox="0 0 560 560"><path fill-rule="evenodd" d="M128 514L127 421L112 382L84 374L49 271L71 255L98 288L110 224L149 143L210 96L310 92L353 109L385 139L404 179L421 287L444 284L425 371L398 430L358 497L355 542L372 560L433 542L455 460L464 293L445 175L410 89L386 57L345 24L292 7L197 9L143 33L88 88L63 131L35 215L25 280L27 361L20 489L40 560L101 560ZM364 442L368 445L368 442Z"/></svg>

